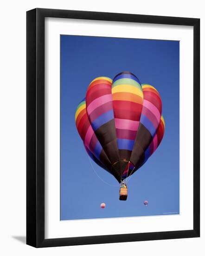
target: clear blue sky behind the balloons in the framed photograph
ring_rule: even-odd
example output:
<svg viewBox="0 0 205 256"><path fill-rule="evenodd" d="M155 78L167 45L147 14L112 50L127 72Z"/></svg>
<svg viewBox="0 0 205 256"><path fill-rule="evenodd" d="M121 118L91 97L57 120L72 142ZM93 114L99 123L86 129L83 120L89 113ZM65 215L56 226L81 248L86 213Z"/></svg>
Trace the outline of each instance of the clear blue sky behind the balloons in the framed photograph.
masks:
<svg viewBox="0 0 205 256"><path fill-rule="evenodd" d="M60 40L61 220L179 213L179 41L69 35ZM141 83L159 91L165 119L164 138L132 175L127 201L119 201L119 187L97 177L75 125L77 105L90 82L97 76L113 79L122 71L134 73ZM118 184L92 164L105 182Z"/></svg>

